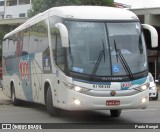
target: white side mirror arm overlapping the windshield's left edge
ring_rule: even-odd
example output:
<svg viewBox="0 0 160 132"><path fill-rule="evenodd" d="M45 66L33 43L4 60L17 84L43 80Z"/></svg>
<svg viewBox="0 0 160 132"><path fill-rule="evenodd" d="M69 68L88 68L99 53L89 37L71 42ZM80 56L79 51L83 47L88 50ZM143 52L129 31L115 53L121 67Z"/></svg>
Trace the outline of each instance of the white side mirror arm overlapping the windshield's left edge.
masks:
<svg viewBox="0 0 160 132"><path fill-rule="evenodd" d="M62 23L56 23L55 26L59 29L62 41L62 47L69 47L68 30Z"/></svg>

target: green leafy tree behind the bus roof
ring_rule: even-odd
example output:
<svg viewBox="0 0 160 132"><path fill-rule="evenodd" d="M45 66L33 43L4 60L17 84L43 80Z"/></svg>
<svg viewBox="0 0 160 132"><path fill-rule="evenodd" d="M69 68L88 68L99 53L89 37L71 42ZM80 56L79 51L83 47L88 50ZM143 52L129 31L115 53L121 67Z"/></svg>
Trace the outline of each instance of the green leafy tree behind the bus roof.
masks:
<svg viewBox="0 0 160 132"><path fill-rule="evenodd" d="M32 9L28 11L28 16L32 17L51 7L65 5L99 5L114 6L113 0L33 0Z"/></svg>

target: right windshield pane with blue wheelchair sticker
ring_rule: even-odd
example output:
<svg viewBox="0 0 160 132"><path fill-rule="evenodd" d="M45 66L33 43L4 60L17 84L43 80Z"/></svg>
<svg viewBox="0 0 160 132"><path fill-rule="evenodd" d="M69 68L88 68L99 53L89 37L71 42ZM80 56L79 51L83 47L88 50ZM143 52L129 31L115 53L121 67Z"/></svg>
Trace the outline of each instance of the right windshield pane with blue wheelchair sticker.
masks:
<svg viewBox="0 0 160 132"><path fill-rule="evenodd" d="M129 70L138 73L147 69L146 50L140 24L134 23L107 23L108 36L111 48L113 75L125 75L125 66L120 61L116 49L124 58ZM116 49L115 49L116 48Z"/></svg>

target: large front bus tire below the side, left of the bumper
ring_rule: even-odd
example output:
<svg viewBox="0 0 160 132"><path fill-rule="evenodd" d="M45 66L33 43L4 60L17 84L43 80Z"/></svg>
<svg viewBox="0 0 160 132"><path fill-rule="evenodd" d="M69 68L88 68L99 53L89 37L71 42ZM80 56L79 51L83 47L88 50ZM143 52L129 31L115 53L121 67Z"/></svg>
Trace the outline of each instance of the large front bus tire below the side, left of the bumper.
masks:
<svg viewBox="0 0 160 132"><path fill-rule="evenodd" d="M47 105L47 112L50 116L57 116L60 114L60 109L54 107L53 105L52 91L50 87L47 90L46 105Z"/></svg>

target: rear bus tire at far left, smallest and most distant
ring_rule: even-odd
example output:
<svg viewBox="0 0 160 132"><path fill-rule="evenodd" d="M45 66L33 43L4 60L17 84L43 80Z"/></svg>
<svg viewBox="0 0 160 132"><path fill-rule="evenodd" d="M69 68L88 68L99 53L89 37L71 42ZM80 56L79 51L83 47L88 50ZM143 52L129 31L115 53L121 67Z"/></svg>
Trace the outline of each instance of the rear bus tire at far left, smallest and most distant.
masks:
<svg viewBox="0 0 160 132"><path fill-rule="evenodd" d="M15 94L15 87L14 85L11 86L11 101L12 101L12 104L15 105L15 106L19 106L21 105L21 101L16 99L16 94Z"/></svg>

